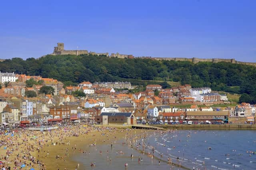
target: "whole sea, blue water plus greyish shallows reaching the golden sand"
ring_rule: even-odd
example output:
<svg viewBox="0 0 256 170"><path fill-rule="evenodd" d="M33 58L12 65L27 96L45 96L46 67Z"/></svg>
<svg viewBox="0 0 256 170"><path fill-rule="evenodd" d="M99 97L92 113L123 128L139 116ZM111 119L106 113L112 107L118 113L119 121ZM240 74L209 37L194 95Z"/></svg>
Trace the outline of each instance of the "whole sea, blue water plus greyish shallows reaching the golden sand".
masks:
<svg viewBox="0 0 256 170"><path fill-rule="evenodd" d="M84 146L86 154L76 154L72 159L81 162L86 170L256 169L256 131L174 130L154 132L146 139L137 140L132 148L123 143L124 139L115 141L112 147ZM144 152L142 143L146 144ZM147 152L152 153L153 147L152 158ZM168 164L168 158L175 166ZM92 163L95 166L91 166ZM128 168L124 167L126 163Z"/></svg>

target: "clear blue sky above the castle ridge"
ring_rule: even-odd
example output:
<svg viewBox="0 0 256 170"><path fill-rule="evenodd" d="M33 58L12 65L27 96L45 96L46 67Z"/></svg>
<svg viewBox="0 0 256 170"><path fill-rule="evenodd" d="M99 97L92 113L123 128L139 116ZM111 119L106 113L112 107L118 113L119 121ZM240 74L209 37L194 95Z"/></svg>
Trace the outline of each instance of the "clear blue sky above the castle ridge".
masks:
<svg viewBox="0 0 256 170"><path fill-rule="evenodd" d="M256 62L256 0L4 0L0 59L65 49Z"/></svg>

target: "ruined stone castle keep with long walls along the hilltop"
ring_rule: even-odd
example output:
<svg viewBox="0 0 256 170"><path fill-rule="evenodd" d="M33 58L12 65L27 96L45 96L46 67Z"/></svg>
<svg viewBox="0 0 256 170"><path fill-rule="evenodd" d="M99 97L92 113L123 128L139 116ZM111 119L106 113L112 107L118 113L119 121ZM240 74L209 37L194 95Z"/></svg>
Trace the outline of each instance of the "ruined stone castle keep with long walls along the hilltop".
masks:
<svg viewBox="0 0 256 170"><path fill-rule="evenodd" d="M119 53L112 53L111 55L108 55L108 53L95 53L95 52L88 52L87 50L65 50L64 49L64 43L57 43L57 47L54 47L54 51L51 55L80 55L80 54L92 54L92 55L106 55L107 57L117 57L121 59L133 59L133 55L125 55L125 54L119 54ZM212 63L218 63L218 62L227 62L227 63L236 63L236 64L246 64L246 65L252 65L256 66L256 63L248 63L248 62L241 62L236 61L235 59L199 59L199 58L162 58L162 57L142 57L147 59L153 59L153 60L168 60L168 61L190 61L192 63L198 63L198 62L212 62Z"/></svg>

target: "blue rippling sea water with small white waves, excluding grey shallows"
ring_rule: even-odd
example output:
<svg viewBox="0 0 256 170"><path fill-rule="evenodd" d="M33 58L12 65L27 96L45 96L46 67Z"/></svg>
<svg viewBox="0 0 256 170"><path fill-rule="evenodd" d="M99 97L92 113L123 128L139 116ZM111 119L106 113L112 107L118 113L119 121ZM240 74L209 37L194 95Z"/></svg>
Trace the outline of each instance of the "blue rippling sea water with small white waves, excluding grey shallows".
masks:
<svg viewBox="0 0 256 170"><path fill-rule="evenodd" d="M170 156L174 161L179 157L190 169L256 169L256 131L183 130L149 141L157 144L156 151L163 157Z"/></svg>

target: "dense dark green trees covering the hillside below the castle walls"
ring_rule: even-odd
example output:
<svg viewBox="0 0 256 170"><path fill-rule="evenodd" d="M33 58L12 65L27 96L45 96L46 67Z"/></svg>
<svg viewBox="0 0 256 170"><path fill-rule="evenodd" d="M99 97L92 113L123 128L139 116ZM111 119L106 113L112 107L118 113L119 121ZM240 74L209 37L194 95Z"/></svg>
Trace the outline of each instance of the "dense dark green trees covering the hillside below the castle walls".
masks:
<svg viewBox="0 0 256 170"><path fill-rule="evenodd" d="M82 81L122 81L142 85L140 80L176 81L192 87L211 87L212 90L249 94L241 99L256 102L256 67L232 63L193 64L182 61L152 59L118 59L94 55L47 55L40 59L20 58L0 62L2 72L40 75L55 78L65 85ZM243 100L243 101L242 101Z"/></svg>

